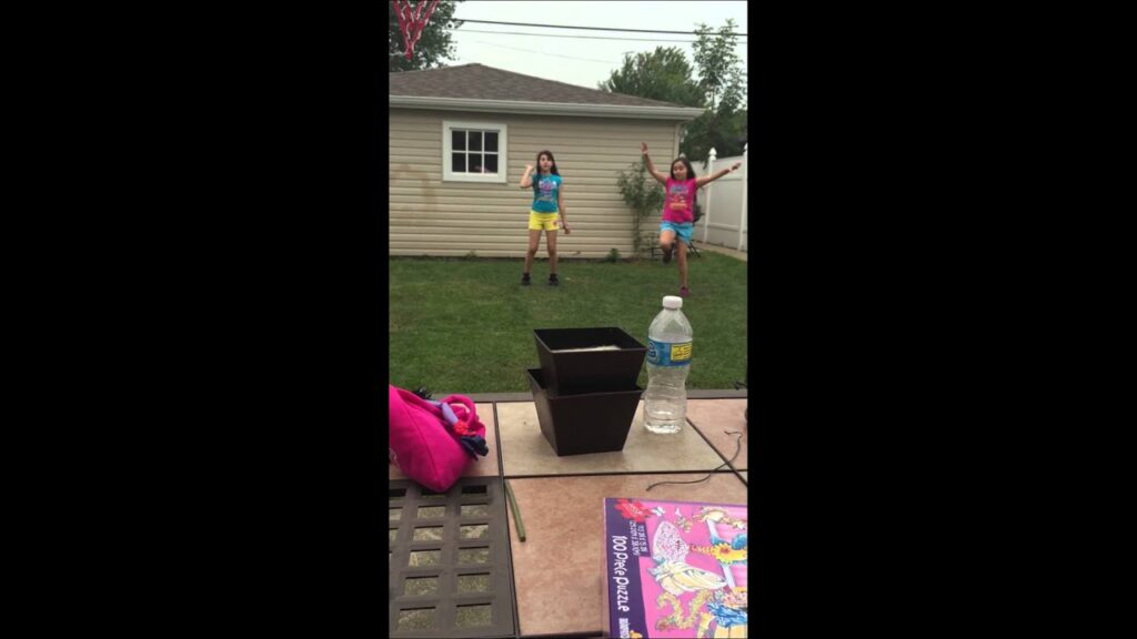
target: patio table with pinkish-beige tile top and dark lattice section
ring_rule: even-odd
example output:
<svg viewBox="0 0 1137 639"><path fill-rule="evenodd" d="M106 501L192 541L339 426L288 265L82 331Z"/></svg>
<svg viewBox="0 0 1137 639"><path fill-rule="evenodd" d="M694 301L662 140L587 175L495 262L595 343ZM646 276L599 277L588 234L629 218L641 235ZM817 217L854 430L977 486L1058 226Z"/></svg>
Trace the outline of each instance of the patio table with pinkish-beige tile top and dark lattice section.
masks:
<svg viewBox="0 0 1137 639"><path fill-rule="evenodd" d="M434 397L446 395L434 393ZM480 514L500 513L496 515L500 521L485 520L483 534L485 545L500 546L504 561L487 564L481 586L495 589L497 598L408 598L407 587L398 583L404 579L399 571L407 566L395 565L396 561L407 562L407 553L396 553L395 540L398 534L409 534L422 522L402 518L413 515L400 514L399 520L392 515L391 637L603 637L604 498L747 501L745 390L689 391L688 428L673 435L654 434L644 428L640 401L623 450L565 457L558 457L541 434L530 393L468 397L485 424L490 451L470 464L464 478L491 484L484 499L493 507ZM706 481L666 483L648 491L655 482L691 482L708 473ZM406 484L395 466L390 466L389 480L392 487ZM498 482L504 487L505 481L516 499L524 541L518 538L514 514L505 506L501 487L497 487ZM484 493L484 489L479 490ZM453 491L460 492L457 488ZM397 493L401 495L392 490L392 513L400 505L397 499L406 499L395 497ZM473 526L460 530L467 528ZM459 533L447 534L458 539ZM463 541L467 547L464 551L473 551L472 543ZM412 572L416 572L415 576L418 572L433 574L430 567ZM443 567L435 572L443 572ZM457 571L472 572L476 571ZM462 584L474 583L474 576L449 575L443 583L456 583L455 592L462 592L465 587ZM474 614L475 608L484 614Z"/></svg>

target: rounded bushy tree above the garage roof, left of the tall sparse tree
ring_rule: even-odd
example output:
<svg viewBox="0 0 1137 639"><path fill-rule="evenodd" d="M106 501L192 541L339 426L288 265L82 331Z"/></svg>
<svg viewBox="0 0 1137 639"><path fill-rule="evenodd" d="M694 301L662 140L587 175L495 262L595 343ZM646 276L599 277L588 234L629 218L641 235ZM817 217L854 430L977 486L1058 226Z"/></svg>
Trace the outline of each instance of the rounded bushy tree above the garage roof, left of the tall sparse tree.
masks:
<svg viewBox="0 0 1137 639"><path fill-rule="evenodd" d="M623 67L598 84L601 91L684 107L702 107L705 91L691 77L691 65L680 49L656 47L650 53L624 55Z"/></svg>

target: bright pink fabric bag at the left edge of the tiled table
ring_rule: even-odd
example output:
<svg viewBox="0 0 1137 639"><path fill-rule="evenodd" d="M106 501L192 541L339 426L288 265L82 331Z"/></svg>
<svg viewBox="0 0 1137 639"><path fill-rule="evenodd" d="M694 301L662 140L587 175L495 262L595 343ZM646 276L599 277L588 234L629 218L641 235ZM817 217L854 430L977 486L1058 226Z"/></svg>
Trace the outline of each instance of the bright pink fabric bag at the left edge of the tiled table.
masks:
<svg viewBox="0 0 1137 639"><path fill-rule="evenodd" d="M451 395L433 401L390 384L388 397L388 454L414 481L446 492L471 459L489 454L485 426L468 397Z"/></svg>

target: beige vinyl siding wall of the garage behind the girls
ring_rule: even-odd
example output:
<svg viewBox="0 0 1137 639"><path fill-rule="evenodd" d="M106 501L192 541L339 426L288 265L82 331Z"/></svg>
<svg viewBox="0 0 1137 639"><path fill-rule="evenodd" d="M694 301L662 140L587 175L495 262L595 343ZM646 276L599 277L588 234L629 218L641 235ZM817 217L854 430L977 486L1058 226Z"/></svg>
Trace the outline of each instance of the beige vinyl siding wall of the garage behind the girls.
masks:
<svg viewBox="0 0 1137 639"><path fill-rule="evenodd" d="M442 181L442 122L507 125L506 182ZM538 117L465 111L391 109L389 251L392 256L523 257L529 243L532 190L517 183L537 153L553 151L564 179L571 235L557 234L561 258L600 258L632 251L631 213L616 174L639 159L647 142L656 168L666 169L677 144L674 121ZM648 219L657 224L657 218ZM545 240L538 256L545 255Z"/></svg>

